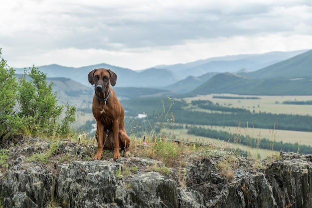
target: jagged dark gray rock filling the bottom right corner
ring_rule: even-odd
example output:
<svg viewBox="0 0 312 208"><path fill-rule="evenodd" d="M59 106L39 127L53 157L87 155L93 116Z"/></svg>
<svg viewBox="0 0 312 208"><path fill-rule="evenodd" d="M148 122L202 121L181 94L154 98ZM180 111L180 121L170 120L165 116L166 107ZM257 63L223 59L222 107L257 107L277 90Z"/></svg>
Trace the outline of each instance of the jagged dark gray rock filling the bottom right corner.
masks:
<svg viewBox="0 0 312 208"><path fill-rule="evenodd" d="M230 183L216 208L312 208L312 155L281 153L264 173Z"/></svg>

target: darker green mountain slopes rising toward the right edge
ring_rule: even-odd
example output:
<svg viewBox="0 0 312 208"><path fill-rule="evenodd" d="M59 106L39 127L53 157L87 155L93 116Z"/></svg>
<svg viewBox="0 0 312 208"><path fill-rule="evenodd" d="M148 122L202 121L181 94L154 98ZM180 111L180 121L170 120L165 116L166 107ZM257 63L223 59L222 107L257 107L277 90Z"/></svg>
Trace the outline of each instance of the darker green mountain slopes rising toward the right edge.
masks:
<svg viewBox="0 0 312 208"><path fill-rule="evenodd" d="M219 73L189 94L312 95L312 50L257 71Z"/></svg>

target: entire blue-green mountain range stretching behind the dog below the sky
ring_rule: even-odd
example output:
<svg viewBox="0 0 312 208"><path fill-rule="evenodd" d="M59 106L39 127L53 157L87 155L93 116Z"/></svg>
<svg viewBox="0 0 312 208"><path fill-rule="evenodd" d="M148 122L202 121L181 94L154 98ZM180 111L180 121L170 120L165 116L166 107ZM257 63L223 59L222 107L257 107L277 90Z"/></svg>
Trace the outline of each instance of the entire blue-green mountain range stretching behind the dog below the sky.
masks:
<svg viewBox="0 0 312 208"><path fill-rule="evenodd" d="M52 87L62 96L89 94L92 86L87 75L94 68L108 68L117 74L114 89L123 98L210 93L312 95L312 50L224 56L157 65L142 71L104 63L79 68L56 64L37 68L47 74L48 81L54 83ZM24 69L15 71L20 74Z"/></svg>

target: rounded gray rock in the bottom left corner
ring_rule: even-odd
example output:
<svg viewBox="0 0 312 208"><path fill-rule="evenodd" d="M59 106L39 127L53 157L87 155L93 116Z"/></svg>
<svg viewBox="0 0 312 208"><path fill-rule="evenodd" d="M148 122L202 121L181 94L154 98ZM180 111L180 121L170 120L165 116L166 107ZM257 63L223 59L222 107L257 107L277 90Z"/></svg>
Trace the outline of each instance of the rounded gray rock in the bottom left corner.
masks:
<svg viewBox="0 0 312 208"><path fill-rule="evenodd" d="M0 180L8 208L42 208L52 200L54 188L54 175L37 163L17 164Z"/></svg>

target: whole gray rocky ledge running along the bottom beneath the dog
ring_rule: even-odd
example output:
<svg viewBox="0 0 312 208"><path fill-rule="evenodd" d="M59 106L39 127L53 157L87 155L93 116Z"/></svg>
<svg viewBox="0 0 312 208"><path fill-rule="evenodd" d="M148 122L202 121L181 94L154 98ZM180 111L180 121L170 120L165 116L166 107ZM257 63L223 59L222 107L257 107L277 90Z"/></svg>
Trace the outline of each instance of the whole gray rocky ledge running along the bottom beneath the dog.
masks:
<svg viewBox="0 0 312 208"><path fill-rule="evenodd" d="M89 150L66 142L60 152ZM65 148L66 147L66 148ZM311 208L312 155L281 153L263 161L237 158L233 177L220 170L225 155L192 160L182 170L164 176L148 171L163 166L151 159L129 157L43 164L30 162L21 151L0 175L0 199L7 208ZM41 150L49 148L42 145ZM76 149L75 149L76 148ZM40 149L40 148L39 148ZM18 151L16 150L16 151ZM90 151L92 152L92 151ZM77 154L78 153L78 154ZM93 153L93 152L92 152ZM121 178L120 173L137 171Z"/></svg>

